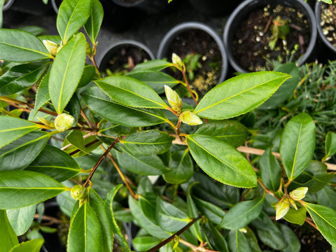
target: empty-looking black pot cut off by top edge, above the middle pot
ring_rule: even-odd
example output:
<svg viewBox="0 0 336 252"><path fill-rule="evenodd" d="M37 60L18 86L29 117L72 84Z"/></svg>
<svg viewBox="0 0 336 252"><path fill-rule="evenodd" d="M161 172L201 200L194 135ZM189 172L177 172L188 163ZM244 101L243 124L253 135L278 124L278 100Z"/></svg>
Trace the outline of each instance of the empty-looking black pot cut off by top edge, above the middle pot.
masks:
<svg viewBox="0 0 336 252"><path fill-rule="evenodd" d="M209 16L223 16L231 13L241 0L225 1L225 0L189 0L191 5L200 13Z"/></svg>

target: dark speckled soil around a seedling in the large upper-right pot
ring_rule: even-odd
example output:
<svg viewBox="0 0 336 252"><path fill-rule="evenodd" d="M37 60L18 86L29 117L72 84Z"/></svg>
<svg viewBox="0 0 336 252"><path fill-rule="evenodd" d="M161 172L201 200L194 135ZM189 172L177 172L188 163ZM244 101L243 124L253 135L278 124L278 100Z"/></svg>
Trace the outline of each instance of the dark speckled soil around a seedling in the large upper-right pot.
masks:
<svg viewBox="0 0 336 252"><path fill-rule="evenodd" d="M269 48L272 40L272 21L277 17L286 20L290 29L286 36L286 46L282 39L276 41L274 50ZM304 54L309 45L310 30L307 19L295 8L270 5L253 11L241 22L235 41L232 43L233 55L237 63L248 71L265 68L267 61L286 62L290 55L295 60Z"/></svg>

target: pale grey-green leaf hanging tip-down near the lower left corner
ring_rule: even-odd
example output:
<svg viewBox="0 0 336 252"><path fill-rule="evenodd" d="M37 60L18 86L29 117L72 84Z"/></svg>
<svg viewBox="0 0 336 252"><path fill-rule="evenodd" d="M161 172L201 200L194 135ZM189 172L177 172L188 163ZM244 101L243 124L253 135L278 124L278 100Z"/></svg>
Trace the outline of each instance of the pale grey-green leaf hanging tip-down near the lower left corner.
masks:
<svg viewBox="0 0 336 252"><path fill-rule="evenodd" d="M34 220L36 204L20 209L8 209L7 216L16 235L23 235Z"/></svg>

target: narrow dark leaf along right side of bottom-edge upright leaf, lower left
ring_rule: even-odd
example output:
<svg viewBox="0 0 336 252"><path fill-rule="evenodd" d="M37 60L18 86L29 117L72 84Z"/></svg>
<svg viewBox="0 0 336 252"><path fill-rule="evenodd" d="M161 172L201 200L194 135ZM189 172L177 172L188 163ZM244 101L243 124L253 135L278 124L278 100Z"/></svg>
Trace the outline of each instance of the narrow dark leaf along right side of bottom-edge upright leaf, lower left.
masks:
<svg viewBox="0 0 336 252"><path fill-rule="evenodd" d="M102 230L102 243L99 246L100 251L112 251L113 250L113 230L112 224L109 221L108 213L106 211L106 204L102 198L92 189L88 190L90 207L94 209L99 224Z"/></svg>

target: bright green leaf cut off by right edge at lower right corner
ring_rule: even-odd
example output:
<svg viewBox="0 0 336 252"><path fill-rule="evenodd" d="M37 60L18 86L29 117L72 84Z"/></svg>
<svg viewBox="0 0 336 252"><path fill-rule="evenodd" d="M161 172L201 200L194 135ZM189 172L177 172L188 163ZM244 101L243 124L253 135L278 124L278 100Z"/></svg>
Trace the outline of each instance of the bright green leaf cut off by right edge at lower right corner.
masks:
<svg viewBox="0 0 336 252"><path fill-rule="evenodd" d="M308 202L304 202L304 207L306 207L309 215L323 237L332 246L336 246L336 210Z"/></svg>

